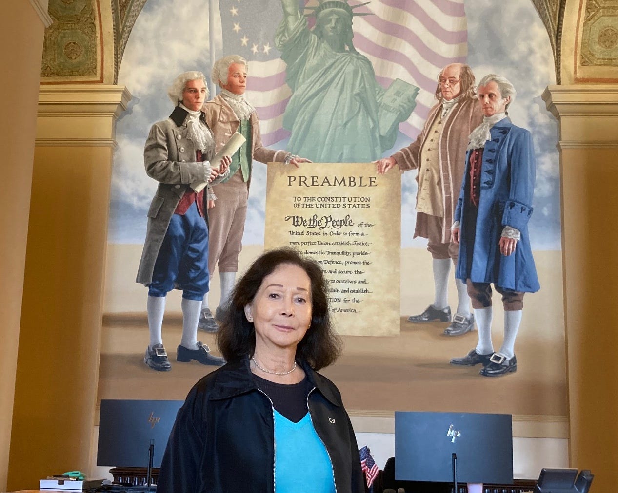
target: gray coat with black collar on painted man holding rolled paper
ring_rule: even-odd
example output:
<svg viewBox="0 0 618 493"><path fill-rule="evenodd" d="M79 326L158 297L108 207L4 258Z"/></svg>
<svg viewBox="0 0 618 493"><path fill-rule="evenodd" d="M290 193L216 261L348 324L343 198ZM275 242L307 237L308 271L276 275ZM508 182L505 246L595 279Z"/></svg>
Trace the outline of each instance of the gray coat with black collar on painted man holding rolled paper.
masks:
<svg viewBox="0 0 618 493"><path fill-rule="evenodd" d="M152 282L155 262L167 226L180 199L190 183L203 181L210 176L214 139L213 147L205 153L207 160L195 162L196 149L187 126L187 115L187 111L177 106L167 120L152 126L144 147L146 173L159 182L148 210L146 240L135 280L146 286ZM205 123L203 115L201 120ZM222 180L224 176L218 176L214 183ZM206 207L204 209L206 210Z"/></svg>

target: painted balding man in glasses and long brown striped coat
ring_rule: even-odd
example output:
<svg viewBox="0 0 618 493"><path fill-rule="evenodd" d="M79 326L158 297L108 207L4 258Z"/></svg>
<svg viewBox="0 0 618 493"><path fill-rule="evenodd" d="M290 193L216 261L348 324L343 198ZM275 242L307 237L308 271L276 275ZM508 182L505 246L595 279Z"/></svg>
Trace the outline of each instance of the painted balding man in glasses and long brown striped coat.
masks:
<svg viewBox="0 0 618 493"><path fill-rule="evenodd" d="M391 157L378 161L378 173L397 165L400 172L417 169L417 222L414 237L427 238L432 257L434 300L412 323L450 322L446 336L460 336L474 329L465 281L455 278L457 310L451 320L447 299L451 262L457 267L459 245L451 241L455 204L464 176L470 132L483 120L476 97L475 77L468 65L447 65L438 74L438 102L417 139Z"/></svg>

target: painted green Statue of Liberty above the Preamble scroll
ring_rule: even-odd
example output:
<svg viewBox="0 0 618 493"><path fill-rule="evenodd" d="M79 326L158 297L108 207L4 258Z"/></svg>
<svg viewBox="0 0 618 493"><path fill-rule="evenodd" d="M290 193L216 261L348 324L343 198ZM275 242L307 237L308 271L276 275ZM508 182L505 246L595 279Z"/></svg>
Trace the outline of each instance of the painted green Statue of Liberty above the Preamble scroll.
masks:
<svg viewBox="0 0 618 493"><path fill-rule="evenodd" d="M315 162L371 162L394 145L418 88L399 79L387 89L376 82L371 62L352 43L353 17L370 15L353 12L362 5L319 1L308 7L316 18L309 30L298 1L281 0L275 44L292 89L283 117L292 133L287 149Z"/></svg>

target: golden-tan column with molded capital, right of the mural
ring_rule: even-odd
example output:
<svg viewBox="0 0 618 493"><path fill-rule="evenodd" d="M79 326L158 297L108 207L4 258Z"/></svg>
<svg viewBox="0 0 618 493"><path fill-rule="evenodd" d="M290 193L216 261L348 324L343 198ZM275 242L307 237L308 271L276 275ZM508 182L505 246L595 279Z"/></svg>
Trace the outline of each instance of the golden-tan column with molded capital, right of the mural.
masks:
<svg viewBox="0 0 618 493"><path fill-rule="evenodd" d="M570 466L618 483L618 85L549 86L559 118ZM551 357L551 355L548 355Z"/></svg>

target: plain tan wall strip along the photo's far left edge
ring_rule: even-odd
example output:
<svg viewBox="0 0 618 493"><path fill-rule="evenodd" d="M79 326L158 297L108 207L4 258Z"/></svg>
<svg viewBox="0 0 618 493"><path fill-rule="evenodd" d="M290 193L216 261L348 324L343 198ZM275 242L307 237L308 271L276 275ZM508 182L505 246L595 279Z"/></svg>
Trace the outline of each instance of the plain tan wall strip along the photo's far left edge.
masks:
<svg viewBox="0 0 618 493"><path fill-rule="evenodd" d="M6 491L43 21L29 2L6 2L0 17L2 160L0 195L0 491ZM11 67L11 69L7 69Z"/></svg>

